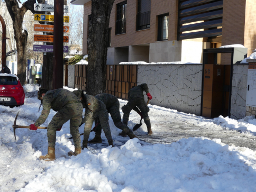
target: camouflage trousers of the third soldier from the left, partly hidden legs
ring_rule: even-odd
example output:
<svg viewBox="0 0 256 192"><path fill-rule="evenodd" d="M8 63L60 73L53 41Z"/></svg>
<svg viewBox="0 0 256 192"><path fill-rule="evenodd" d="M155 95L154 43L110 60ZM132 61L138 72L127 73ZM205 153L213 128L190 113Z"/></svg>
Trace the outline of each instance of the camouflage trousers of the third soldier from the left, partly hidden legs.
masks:
<svg viewBox="0 0 256 192"><path fill-rule="evenodd" d="M117 102L114 105L107 108L107 112L111 115L111 118L112 118L115 126L127 134L132 130L130 130L129 127L121 121L122 119L121 119L121 115L120 115L119 106L120 106L120 104L119 104L119 101L117 100ZM96 125L97 121L98 121L98 118L95 119L95 125ZM95 134L100 135L101 133L102 133L102 126L99 124L95 130Z"/></svg>

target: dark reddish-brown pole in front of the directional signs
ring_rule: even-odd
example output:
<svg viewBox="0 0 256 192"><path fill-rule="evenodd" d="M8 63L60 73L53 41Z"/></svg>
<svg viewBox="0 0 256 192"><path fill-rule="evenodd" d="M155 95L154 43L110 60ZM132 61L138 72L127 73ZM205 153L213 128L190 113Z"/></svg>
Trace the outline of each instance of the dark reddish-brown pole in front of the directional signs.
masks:
<svg viewBox="0 0 256 192"><path fill-rule="evenodd" d="M54 0L53 89L63 88L63 8L63 0Z"/></svg>

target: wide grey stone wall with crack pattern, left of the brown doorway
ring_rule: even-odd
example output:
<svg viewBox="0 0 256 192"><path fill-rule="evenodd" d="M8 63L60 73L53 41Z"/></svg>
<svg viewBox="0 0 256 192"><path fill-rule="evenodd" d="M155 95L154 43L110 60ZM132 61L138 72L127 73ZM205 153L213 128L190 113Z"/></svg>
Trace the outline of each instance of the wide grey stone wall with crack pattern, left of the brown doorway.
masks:
<svg viewBox="0 0 256 192"><path fill-rule="evenodd" d="M148 84L152 105L200 115L202 69L202 64L139 65L138 85Z"/></svg>

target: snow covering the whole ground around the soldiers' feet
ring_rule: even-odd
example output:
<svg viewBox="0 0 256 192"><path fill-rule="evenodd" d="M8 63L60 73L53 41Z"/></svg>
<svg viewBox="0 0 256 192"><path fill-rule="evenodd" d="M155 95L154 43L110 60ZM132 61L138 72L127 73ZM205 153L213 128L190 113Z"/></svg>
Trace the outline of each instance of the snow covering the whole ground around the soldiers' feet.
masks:
<svg viewBox="0 0 256 192"><path fill-rule="evenodd" d="M25 87L29 93L37 89L31 85ZM226 131L241 137L246 135L255 143L256 122L251 117L239 121L228 117L211 120L149 105L152 138L147 136L145 124L134 132L141 140L122 138L118 136L121 130L109 117L117 147L108 147L102 133L102 144L89 145L88 150L71 158L67 152L74 150L74 143L67 139L70 136L67 122L57 132L57 160L44 162L38 157L47 153L46 130L17 129L17 141L14 139L12 124L17 111L20 111L16 122L19 125L34 123L40 115L39 100L33 94L26 95L31 97L26 97L21 107L0 106L0 191L256 191L255 151L204 136L171 143L168 137L161 138L159 134L169 130L171 136L178 129L185 129L188 136L202 135L202 130ZM125 103L120 99L120 106ZM42 126L47 126L55 113L51 110ZM139 120L139 115L132 112L128 126L132 128ZM83 132L83 125L79 130ZM90 134L89 139L94 135Z"/></svg>

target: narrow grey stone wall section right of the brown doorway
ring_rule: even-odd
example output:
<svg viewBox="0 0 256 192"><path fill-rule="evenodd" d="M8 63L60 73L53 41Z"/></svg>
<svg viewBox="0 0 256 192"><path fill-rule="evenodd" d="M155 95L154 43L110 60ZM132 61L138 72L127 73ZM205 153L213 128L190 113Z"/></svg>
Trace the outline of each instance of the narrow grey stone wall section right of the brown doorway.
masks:
<svg viewBox="0 0 256 192"><path fill-rule="evenodd" d="M248 65L233 65L230 117L244 118L246 115L246 88Z"/></svg>

